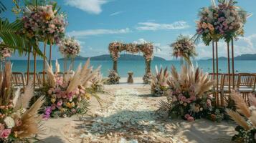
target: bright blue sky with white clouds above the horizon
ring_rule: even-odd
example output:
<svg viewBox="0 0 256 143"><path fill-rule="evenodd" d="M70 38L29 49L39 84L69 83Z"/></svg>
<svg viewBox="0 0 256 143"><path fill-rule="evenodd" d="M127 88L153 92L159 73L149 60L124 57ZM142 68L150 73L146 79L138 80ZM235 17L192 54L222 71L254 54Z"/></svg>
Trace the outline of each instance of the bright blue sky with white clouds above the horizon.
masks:
<svg viewBox="0 0 256 143"><path fill-rule="evenodd" d="M251 14L256 14L255 0L237 0L238 5ZM12 1L4 0L9 8L2 16L13 21ZM111 41L151 41L161 50L155 56L174 59L170 56L171 44L179 34L193 36L198 11L211 4L210 0L57 0L67 14L68 36L75 36L82 46L81 56L108 54ZM226 56L224 41L219 42L219 55ZM212 56L211 46L199 43L196 46L199 59ZM235 55L256 53L256 15L245 25L245 36L235 41ZM57 46L54 59L62 57ZM14 55L13 59L21 59Z"/></svg>

